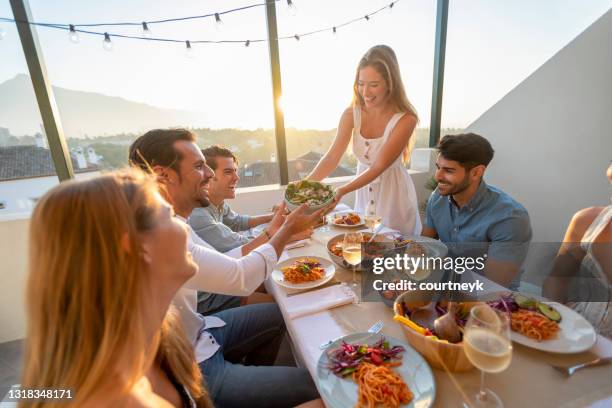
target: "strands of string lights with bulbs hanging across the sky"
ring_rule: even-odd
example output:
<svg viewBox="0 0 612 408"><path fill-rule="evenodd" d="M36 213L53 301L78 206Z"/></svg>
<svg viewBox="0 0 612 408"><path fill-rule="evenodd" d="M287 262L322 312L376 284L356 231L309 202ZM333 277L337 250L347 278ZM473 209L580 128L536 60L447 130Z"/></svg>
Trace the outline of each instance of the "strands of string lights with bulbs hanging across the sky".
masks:
<svg viewBox="0 0 612 408"><path fill-rule="evenodd" d="M274 1L282 1L282 0L274 0ZM330 26L330 27L325 27L325 28L320 28L317 30L313 30L313 31L309 31L309 32L304 32L301 34L294 34L294 35L288 35L288 36L279 36L277 38L275 38L275 40L288 40L288 39L295 39L296 41L300 41L301 37L306 37L306 36L311 36L311 35L315 35L315 34L319 34L319 33L323 33L323 32L329 32L330 30L332 31L333 34L337 33L337 30L339 28L345 27L347 25L356 23L358 21L361 20L366 20L369 21L370 17L383 11L383 10L391 10L393 9L393 7L395 6L396 3L398 3L401 0L394 0L391 3L387 4L384 7L381 7L371 13L368 13L366 15L364 15L363 17L357 17L354 18L352 20L348 20L342 24L337 24L334 26ZM151 36L151 30L149 29L149 26L151 24L161 24L161 23L166 23L166 22L172 22L172 21L184 21L184 20L192 20L192 19L202 19L202 18L210 18L210 17L214 17L215 18L215 26L217 29L219 29L222 25L223 25L223 21L221 20L221 15L222 14L228 14L228 13L233 13L233 12L237 12L237 11L242 11L242 10L246 10L249 8L253 8L253 7L258 7L258 6L264 6L267 3L258 3L258 4L252 4L249 6L245 6L245 7L241 7L241 8L237 8L237 9L233 9L233 10L228 10L228 11L222 11L222 12L216 12L216 13L211 13L211 14L206 14L206 15L199 15L199 16L188 16L188 17L180 17L180 18L172 18L172 19L164 19L164 20L156 20L156 21L147 21L147 22L139 22L139 23L134 23L134 22L117 22L117 23L96 23L96 24L56 24L56 23L41 23L41 22L32 22L32 21L18 21L15 19L9 19L9 18L5 18L5 17L0 17L0 22L12 22L12 23L26 23L26 24L30 24L33 26L40 26L40 27L46 27L46 28L54 28L54 29L58 29L58 30L67 30L69 31L69 35L71 34L72 30L71 27L74 28L74 33L80 33L80 34L88 34L88 35L99 35L99 36L104 36L104 41L103 41L103 46L105 50L112 50L113 49L113 43L111 42L111 37L115 37L115 38L127 38L127 39L134 39L134 40L147 40L147 41L155 41L155 42L166 42L166 43L185 43L184 40L179 40L179 39L174 39L174 38L159 38L159 37L152 37ZM293 7L295 7L295 4L293 4L293 0L287 0L287 5L288 7L291 7L291 5L293 5ZM111 25L111 26L141 26L142 27L142 36L136 36L136 35L127 35L127 34L119 34L119 33L109 33L109 32L99 32L99 31L89 31L89 30L85 30L79 27L95 27L95 26L105 26L105 25ZM0 27L0 39L2 39L2 37L4 36L5 32L4 30ZM245 39L238 39L238 40L193 40L190 41L190 44L196 44L196 43L201 43L201 44L243 44L244 46L248 47L251 43L258 43L258 42L268 42L270 41L269 38L260 38L260 39L249 39L249 40L245 40Z"/></svg>

